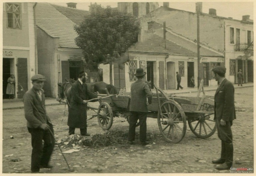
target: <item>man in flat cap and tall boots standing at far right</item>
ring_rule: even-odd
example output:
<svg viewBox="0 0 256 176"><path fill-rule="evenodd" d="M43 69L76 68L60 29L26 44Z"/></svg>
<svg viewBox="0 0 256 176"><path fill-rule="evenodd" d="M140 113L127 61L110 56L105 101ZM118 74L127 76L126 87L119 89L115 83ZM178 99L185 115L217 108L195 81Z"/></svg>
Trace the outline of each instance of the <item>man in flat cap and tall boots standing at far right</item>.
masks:
<svg viewBox="0 0 256 176"><path fill-rule="evenodd" d="M224 76L226 68L217 66L212 69L219 86L214 96L214 119L217 123L218 137L221 139L221 157L212 160L218 170L230 169L233 164L233 136L231 126L236 119L234 86Z"/></svg>

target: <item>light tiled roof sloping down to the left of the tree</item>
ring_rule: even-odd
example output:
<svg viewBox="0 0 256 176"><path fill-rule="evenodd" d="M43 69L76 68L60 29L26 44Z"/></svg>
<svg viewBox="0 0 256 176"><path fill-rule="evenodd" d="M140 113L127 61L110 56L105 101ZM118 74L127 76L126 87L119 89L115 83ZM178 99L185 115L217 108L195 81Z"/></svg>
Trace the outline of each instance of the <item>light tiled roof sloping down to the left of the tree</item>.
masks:
<svg viewBox="0 0 256 176"><path fill-rule="evenodd" d="M75 38L78 36L78 34L74 29L74 26L76 25L76 23L73 22L72 19L69 19L70 16L68 15L66 16L64 14L65 10L60 10L62 9L61 6L59 7L60 8L50 3L37 3L37 5L35 6L36 23L39 24L38 27L42 28L45 31L48 31L50 34L53 34L55 37L59 37L60 47L79 48L75 44ZM70 14L74 14L75 12L75 9L72 9L70 7L63 7L63 8L69 9L71 12ZM83 11L83 10L79 10L79 11ZM81 18L83 16L84 16L83 13L81 13ZM80 19L78 19L78 21L79 20Z"/></svg>

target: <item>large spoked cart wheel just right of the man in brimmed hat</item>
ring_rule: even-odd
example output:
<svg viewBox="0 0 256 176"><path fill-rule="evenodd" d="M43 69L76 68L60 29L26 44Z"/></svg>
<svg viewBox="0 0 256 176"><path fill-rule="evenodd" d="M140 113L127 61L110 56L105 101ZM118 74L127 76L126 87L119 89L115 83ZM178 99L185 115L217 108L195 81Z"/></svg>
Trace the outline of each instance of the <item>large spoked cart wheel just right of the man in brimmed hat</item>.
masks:
<svg viewBox="0 0 256 176"><path fill-rule="evenodd" d="M162 114L158 111L157 123L160 133L167 142L178 143L185 136L186 116L181 106L174 100L166 100L161 106Z"/></svg>

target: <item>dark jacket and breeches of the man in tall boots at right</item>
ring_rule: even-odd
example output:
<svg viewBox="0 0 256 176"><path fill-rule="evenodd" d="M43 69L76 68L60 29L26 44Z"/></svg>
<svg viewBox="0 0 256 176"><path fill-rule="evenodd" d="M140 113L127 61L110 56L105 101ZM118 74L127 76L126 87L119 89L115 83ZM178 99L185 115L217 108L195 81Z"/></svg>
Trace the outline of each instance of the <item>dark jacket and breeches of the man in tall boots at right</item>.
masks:
<svg viewBox="0 0 256 176"><path fill-rule="evenodd" d="M233 84L224 79L217 88L214 96L214 119L217 123L218 137L224 142L232 142L231 125L236 119ZM226 121L226 126L221 126L220 121Z"/></svg>

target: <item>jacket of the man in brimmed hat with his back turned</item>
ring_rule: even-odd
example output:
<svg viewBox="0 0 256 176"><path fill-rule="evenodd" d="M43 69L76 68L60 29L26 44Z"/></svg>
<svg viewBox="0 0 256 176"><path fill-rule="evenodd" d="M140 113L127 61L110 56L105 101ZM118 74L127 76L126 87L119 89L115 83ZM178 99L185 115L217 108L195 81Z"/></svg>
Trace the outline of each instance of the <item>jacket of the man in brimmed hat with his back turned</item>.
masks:
<svg viewBox="0 0 256 176"><path fill-rule="evenodd" d="M148 103L152 103L152 93L150 88L145 81L138 79L131 85L131 103L130 111L135 112L148 112Z"/></svg>

